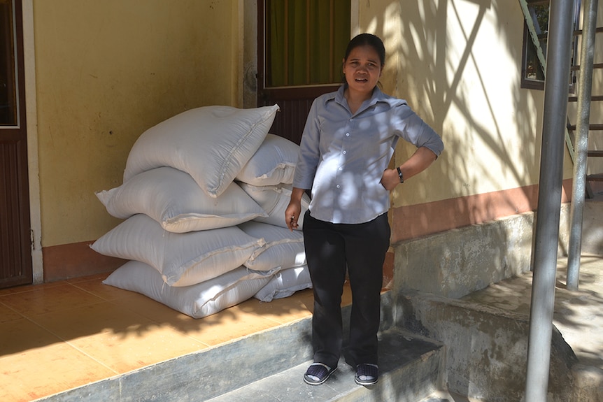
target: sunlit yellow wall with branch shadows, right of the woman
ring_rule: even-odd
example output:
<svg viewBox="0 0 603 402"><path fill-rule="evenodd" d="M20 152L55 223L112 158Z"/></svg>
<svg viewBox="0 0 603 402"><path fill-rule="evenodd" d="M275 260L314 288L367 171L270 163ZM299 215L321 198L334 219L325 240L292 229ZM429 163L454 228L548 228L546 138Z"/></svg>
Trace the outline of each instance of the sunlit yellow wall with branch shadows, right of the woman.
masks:
<svg viewBox="0 0 603 402"><path fill-rule="evenodd" d="M518 1L360 0L359 10L360 31L381 36L388 51L385 92L409 101L446 145L397 187L393 206L538 183L544 94L520 88ZM413 150L399 145L396 164Z"/></svg>

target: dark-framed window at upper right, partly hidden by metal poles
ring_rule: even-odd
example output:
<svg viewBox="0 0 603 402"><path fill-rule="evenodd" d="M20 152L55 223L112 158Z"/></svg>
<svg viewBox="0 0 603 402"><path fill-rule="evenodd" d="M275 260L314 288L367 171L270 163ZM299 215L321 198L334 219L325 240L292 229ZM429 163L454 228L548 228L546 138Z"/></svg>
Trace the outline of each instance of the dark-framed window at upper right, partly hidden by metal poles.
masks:
<svg viewBox="0 0 603 402"><path fill-rule="evenodd" d="M534 25L540 48L546 59L546 48L548 41L548 12L550 9L550 0L527 0L527 8L530 10L530 18ZM581 7L581 0L575 0L574 10L574 30L579 29L579 11ZM576 57L576 45L577 38L574 35L572 41L573 51L572 57ZM574 60L572 60L572 66ZM576 73L572 69L572 77L570 78L570 92L574 92L574 83L576 81ZM527 23L523 22L523 52L521 62L521 87L527 89L541 89L544 90L544 69L539 61L536 47L530 36L530 30L527 27Z"/></svg>

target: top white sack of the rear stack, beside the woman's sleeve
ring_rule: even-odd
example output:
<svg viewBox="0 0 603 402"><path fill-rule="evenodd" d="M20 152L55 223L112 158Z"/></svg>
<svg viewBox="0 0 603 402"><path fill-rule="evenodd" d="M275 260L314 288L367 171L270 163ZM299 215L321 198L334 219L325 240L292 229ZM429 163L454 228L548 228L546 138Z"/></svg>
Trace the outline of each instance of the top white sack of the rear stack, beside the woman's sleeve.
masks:
<svg viewBox="0 0 603 402"><path fill-rule="evenodd" d="M291 184L298 154L299 145L287 138L268 134L235 179L255 186Z"/></svg>

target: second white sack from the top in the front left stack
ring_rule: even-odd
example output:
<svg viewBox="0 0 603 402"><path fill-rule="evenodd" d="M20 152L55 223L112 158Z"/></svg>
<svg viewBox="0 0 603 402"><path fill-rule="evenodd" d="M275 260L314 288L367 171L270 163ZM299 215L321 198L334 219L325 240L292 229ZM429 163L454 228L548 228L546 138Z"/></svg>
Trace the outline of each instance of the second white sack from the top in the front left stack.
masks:
<svg viewBox="0 0 603 402"><path fill-rule="evenodd" d="M213 198L188 173L166 166L139 173L96 195L114 217L143 213L174 233L230 227L268 216L234 182Z"/></svg>

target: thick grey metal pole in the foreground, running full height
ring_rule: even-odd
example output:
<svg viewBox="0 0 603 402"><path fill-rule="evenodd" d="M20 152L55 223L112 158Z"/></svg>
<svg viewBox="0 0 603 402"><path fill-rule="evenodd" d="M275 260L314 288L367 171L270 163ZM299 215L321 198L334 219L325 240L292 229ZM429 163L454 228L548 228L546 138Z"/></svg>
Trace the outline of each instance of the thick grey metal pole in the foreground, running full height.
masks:
<svg viewBox="0 0 603 402"><path fill-rule="evenodd" d="M525 401L546 402L561 212L573 0L551 0Z"/></svg>

